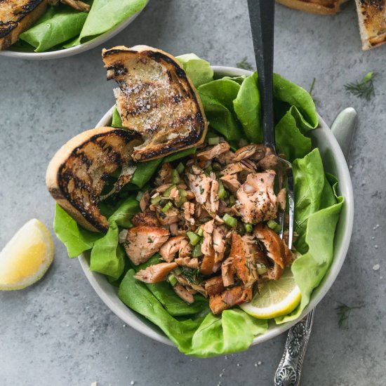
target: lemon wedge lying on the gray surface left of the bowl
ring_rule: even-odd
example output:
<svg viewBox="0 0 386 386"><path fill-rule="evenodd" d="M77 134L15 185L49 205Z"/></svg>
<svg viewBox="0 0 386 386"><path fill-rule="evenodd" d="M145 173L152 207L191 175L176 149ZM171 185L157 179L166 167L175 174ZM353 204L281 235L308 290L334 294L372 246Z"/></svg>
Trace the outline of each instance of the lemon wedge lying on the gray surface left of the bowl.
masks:
<svg viewBox="0 0 386 386"><path fill-rule="evenodd" d="M53 262L53 241L35 218L23 225L0 252L0 290L22 289L41 279Z"/></svg>

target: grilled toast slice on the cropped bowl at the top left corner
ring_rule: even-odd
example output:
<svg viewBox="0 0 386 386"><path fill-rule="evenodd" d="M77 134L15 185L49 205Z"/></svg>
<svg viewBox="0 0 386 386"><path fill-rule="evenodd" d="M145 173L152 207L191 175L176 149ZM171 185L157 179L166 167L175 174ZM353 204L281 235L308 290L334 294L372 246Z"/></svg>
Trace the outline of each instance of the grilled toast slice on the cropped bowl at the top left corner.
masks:
<svg viewBox="0 0 386 386"><path fill-rule="evenodd" d="M47 8L47 0L0 0L0 50L8 48Z"/></svg>

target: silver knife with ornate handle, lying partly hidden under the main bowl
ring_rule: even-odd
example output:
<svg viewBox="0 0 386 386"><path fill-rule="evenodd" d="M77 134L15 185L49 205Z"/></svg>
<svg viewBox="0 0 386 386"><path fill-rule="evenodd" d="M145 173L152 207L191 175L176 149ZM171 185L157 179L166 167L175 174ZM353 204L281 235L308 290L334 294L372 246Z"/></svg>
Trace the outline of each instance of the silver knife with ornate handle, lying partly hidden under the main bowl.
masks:
<svg viewBox="0 0 386 386"><path fill-rule="evenodd" d="M331 131L338 140L346 160L350 155L352 138L357 126L357 112L352 107L344 109L331 125ZM302 373L305 350L312 331L314 311L292 326L288 331L283 357L274 377L275 386L298 386Z"/></svg>

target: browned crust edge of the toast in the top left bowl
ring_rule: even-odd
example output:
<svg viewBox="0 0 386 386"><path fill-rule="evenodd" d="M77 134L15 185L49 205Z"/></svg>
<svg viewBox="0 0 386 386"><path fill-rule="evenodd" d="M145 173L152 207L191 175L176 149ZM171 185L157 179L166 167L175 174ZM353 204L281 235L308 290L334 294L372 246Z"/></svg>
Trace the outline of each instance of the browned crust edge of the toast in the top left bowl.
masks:
<svg viewBox="0 0 386 386"><path fill-rule="evenodd" d="M19 35L26 29L31 27L41 15L44 14L47 8L46 0L29 0L27 4L22 6L25 11L20 13L20 17L15 22L4 22L0 32L0 50L4 50L9 46L12 46L17 40ZM36 8L38 8L36 10ZM32 14L32 11L35 11ZM4 28L6 26L6 28Z"/></svg>

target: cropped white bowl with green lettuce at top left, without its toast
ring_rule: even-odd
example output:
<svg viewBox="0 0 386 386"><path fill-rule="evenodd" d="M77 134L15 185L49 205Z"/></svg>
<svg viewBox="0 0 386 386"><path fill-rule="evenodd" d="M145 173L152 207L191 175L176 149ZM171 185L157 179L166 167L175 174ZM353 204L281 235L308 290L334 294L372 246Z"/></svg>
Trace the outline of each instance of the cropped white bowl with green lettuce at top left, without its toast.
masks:
<svg viewBox="0 0 386 386"><path fill-rule="evenodd" d="M86 0L89 13L60 4L46 13L0 55L44 60L76 55L119 34L137 18L149 0Z"/></svg>

